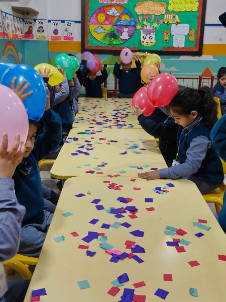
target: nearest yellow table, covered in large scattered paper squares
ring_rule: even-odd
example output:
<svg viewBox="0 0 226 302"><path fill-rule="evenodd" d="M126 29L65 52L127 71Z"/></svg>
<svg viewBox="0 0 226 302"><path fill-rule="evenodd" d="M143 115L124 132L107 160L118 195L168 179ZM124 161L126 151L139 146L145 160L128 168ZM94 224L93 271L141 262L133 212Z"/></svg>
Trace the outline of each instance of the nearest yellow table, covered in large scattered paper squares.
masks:
<svg viewBox="0 0 226 302"><path fill-rule="evenodd" d="M120 185L121 190L110 189L110 184L105 181L114 182L115 187ZM153 191L156 187L162 189L166 183L170 183L170 187L165 194ZM140 190L134 190L134 187ZM79 194L85 196L77 197ZM118 201L118 197L133 200L125 204ZM145 198L153 198L153 202L145 202ZM98 200L98 204L92 203L94 199L100 199L99 203ZM104 209L97 210L96 205L102 205ZM125 208L128 205L136 206L137 218L130 218L129 211L123 213L122 218L109 213L110 207ZM146 208L150 207L154 209L148 211ZM96 224L89 223L93 218L99 221ZM199 227L207 225L211 229L206 231L193 226L193 222L199 219L207 220L207 223L201 220L203 222L198 224ZM116 225L115 221L121 224L128 222L131 226L126 228L118 223L118 229L111 226L109 229L101 228L102 223ZM184 232L177 232L185 235L166 235L167 226L182 229ZM136 230L144 232L144 237L130 234ZM74 237L75 233L72 236L72 232L79 236ZM88 232L104 233L107 243L114 246L112 249L128 254L132 250L131 246L126 248L125 241L136 242L136 245L145 249L145 253L134 252L134 255L144 262L138 263L128 257L118 263L110 262L111 256L99 246L103 242L94 239L86 243L82 240ZM204 236L196 237L198 233ZM98 239L105 240L101 236ZM60 242L57 243L54 238ZM172 242L173 239L184 241L178 243L179 248L167 246L166 242ZM78 248L79 245L88 246L88 250L96 254L88 257L87 250ZM183 252L179 253L177 249ZM199 302L224 302L226 262L219 259L225 260L226 256L218 255L226 255L225 234L194 183L187 180L146 181L138 178L133 182L127 177L114 180L108 177L71 178L65 182L61 192L24 301L30 301L32 290L45 288L47 295L41 296L41 302L114 302L120 300L124 288L130 288L135 289L136 295L146 295L146 302L160 302L162 299L155 295L160 288L157 294L160 292L164 296L169 292L165 299L167 302L192 302L196 299ZM189 264L190 261L198 261L200 265L192 267L195 263ZM112 287L110 282L124 273L128 274L129 281L119 287L120 291L115 297L107 294ZM173 281L164 281L164 274L172 274ZM88 281L90 288L79 288L77 282L83 280ZM133 284L141 281L146 286L135 288ZM190 288L197 288L197 298L189 293ZM193 289L191 292L195 293Z"/></svg>

